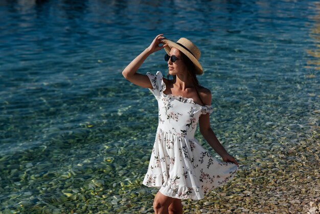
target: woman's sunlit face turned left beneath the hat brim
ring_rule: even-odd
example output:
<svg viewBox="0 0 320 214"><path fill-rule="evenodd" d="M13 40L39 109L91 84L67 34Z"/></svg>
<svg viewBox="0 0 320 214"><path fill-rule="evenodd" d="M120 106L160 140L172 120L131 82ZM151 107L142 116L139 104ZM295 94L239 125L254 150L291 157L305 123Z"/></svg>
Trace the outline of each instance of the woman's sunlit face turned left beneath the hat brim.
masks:
<svg viewBox="0 0 320 214"><path fill-rule="evenodd" d="M168 60L168 69L170 75L177 75L177 74L186 74L188 73L186 65L182 60L181 52L176 48L171 48L169 56L175 55L176 60L175 62L171 61L171 58Z"/></svg>

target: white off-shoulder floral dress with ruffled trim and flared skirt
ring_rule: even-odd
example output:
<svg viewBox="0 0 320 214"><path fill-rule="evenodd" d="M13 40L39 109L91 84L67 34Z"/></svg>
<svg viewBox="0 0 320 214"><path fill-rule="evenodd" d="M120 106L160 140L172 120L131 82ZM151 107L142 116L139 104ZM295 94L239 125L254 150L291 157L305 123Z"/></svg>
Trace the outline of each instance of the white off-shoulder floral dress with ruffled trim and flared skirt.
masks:
<svg viewBox="0 0 320 214"><path fill-rule="evenodd" d="M148 172L143 184L160 187L168 197L204 198L211 189L231 180L238 166L213 158L194 138L199 116L211 114L211 105L196 104L192 98L164 94L166 84L160 71L147 72L158 101L158 127Z"/></svg>

